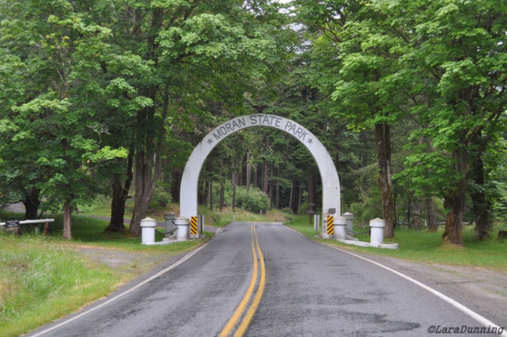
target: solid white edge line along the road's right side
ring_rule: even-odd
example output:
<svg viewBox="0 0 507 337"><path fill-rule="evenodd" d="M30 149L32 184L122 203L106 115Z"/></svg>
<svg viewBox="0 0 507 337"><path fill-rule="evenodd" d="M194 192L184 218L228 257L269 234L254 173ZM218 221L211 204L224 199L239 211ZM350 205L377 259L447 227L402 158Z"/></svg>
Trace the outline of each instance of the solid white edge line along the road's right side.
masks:
<svg viewBox="0 0 507 337"><path fill-rule="evenodd" d="M306 237L305 235L301 234L301 233L300 233L300 232L298 232L297 230L294 230L294 229L292 229L292 228L289 228L289 227L285 226L284 224L282 224L282 226L283 226L283 227L285 227L285 228L287 228L287 229L289 229L289 230L292 230L293 232L296 232L296 233L300 234L302 237L304 237L304 238L308 239L308 237ZM394 270L394 269L392 269L392 268L390 268L390 267L388 267L388 266L385 266L385 265L383 265L383 264L381 264L381 263L378 263L378 262L375 262L375 261L373 261L373 260L370 260L370 259L368 259L368 258L366 258L366 257L360 256L360 255L357 255L357 254L354 254L354 253L351 253L351 252L347 252L346 250L340 249L340 248L338 248L338 247L333 247L333 246L325 245L325 244L323 244L323 243L321 243L321 242L318 242L318 241L315 241L315 242L317 242L317 243L319 243L319 244L321 244L321 245L323 245L323 246L326 246L326 247L330 247L330 248L333 248L333 249L339 250L340 252L347 253L347 254L349 254L349 255L352 255L352 256L358 257L358 258L360 258L360 259L363 259L363 260L365 260L365 261L368 261L368 262L371 262L371 263L373 263L373 264L376 264L376 265L378 265L378 266L380 266L380 267L382 267L382 268L384 268L384 269L388 270L389 272L394 273L394 274L396 274L396 275L398 275L398 276L401 276L401 277L403 277L404 279L406 279L406 280L408 280L408 281L410 281L410 282L412 282L412 283L414 283L414 284L418 285L419 287L423 288L424 290L429 291L429 292L430 292L430 293L432 293L433 295L436 295L437 297L439 297L439 298L443 299L444 301L448 302L451 306L453 306L454 308L456 308L456 309L460 310L461 312L465 313L466 315L468 315L468 316L472 317L473 319L475 319L476 321L478 321L478 322L479 322L479 323L481 323L482 325L484 325L484 326L486 326L486 327L491 326L492 328L493 328L493 327L496 327L497 329L501 328L499 325L497 325L497 324L495 324L495 323L491 322L490 320L488 320L487 318L485 318L485 317L483 317L483 316L479 315L479 314L478 314L478 313L476 313L475 311L473 311L473 310L471 310L471 309L468 309L467 307L463 306L461 303L459 303L459 302L455 301L455 300L454 300L454 299L452 299L451 297L448 297L448 296L444 295L444 294L443 294L443 293L441 293L440 291L435 290L435 289L433 289L433 288L431 288L431 287L429 287L429 286L427 286L427 285L425 285L425 284L423 284L423 283L421 283L421 282L419 282L419 281L417 281L417 280L415 280L415 279L411 278L410 276L407 276L407 275L405 275L405 274L403 274L403 273L400 273L400 272L398 272L398 271L396 271L396 270ZM503 336L503 337L507 337L507 331L503 331L503 332L502 332L502 334L501 334L501 336Z"/></svg>

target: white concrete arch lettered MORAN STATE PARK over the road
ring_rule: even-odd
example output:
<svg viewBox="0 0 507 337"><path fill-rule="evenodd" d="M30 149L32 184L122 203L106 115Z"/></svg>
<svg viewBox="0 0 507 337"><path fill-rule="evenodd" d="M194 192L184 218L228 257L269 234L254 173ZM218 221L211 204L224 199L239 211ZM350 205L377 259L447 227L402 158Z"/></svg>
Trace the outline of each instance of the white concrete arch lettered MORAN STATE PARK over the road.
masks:
<svg viewBox="0 0 507 337"><path fill-rule="evenodd" d="M340 216L340 181L335 163L329 152L313 133L300 124L279 116L256 114L236 117L215 127L197 144L183 171L180 185L180 216L197 216L197 186L201 168L209 153L230 134L247 127L267 126L286 132L296 138L312 154L322 179L322 219L329 215Z"/></svg>

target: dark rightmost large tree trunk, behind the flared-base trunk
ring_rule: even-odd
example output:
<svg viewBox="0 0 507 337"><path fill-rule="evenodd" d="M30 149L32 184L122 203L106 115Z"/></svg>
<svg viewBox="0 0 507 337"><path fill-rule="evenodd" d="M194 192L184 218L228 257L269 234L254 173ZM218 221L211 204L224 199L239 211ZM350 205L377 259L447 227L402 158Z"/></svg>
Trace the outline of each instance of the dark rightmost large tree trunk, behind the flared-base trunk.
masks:
<svg viewBox="0 0 507 337"><path fill-rule="evenodd" d="M473 167L473 175L476 183L475 190L470 194L475 218L475 238L484 240L489 236L489 205L484 191L484 164L478 159Z"/></svg>

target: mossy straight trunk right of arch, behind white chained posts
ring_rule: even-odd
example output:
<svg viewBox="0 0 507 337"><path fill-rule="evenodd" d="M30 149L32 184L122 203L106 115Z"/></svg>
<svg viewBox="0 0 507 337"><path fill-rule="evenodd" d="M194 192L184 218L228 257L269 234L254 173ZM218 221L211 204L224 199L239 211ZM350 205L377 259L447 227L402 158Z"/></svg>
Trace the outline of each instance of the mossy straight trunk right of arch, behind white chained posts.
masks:
<svg viewBox="0 0 507 337"><path fill-rule="evenodd" d="M382 218L385 221L384 238L393 238L396 219L391 179L391 131L388 124L375 124L375 142L379 167L377 184L380 187Z"/></svg>

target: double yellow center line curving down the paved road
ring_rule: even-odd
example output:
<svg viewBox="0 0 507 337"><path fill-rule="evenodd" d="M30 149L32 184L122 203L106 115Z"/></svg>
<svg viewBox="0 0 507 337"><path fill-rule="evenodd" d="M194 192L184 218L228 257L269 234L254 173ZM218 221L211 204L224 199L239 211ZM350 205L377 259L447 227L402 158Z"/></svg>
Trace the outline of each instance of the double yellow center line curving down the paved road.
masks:
<svg viewBox="0 0 507 337"><path fill-rule="evenodd" d="M257 262L256 247L257 252L259 253L259 261L261 262L261 278L259 281L259 287L257 288L255 297L253 297L253 300L251 301L248 311L246 312L246 314L243 317L243 320L236 329L234 337L241 337L243 333L245 333L246 329L248 328L248 325L250 324L253 318L253 315L255 315L255 312L259 307L259 302L261 301L262 293L264 292L264 285L266 284L266 266L264 264L264 257L262 255L261 247L259 246L259 238L257 237L255 225L251 226L251 233L252 233L253 272L250 284L248 285L248 289L246 290L245 296L241 300L238 308L236 309L231 319L229 320L229 322L227 322L226 326L220 333L219 335L220 337L227 337L231 334L231 331L234 329L239 319L241 318L253 294L253 290L255 289L255 285L257 283L257 274L258 274L257 269L259 266Z"/></svg>

